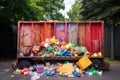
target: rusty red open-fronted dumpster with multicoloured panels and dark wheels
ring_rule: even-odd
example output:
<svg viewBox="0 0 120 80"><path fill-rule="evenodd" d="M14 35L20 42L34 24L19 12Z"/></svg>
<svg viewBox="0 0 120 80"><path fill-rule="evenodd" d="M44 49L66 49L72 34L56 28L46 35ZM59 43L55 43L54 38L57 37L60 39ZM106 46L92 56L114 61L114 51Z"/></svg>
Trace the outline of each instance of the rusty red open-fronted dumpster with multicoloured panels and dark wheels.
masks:
<svg viewBox="0 0 120 80"><path fill-rule="evenodd" d="M54 37L53 37L54 36ZM54 39L55 38L55 39ZM103 21L19 21L18 22L18 43L17 43L17 65L29 67L36 61L78 61L81 56L53 56L53 48L49 47L49 55L40 56L41 45L48 47L49 39L64 41L81 47L89 51L89 58L94 63L93 66L102 67L104 59L104 22ZM57 39L57 40L56 40ZM63 43L62 43L63 44ZM58 45L58 44L57 44ZM52 45L53 46L53 45ZM56 47L56 46L54 46ZM66 45L68 47L68 45ZM63 48L63 46L62 46ZM53 53L53 52L52 52ZM24 64L24 65L23 65ZM25 65L26 64L26 65Z"/></svg>

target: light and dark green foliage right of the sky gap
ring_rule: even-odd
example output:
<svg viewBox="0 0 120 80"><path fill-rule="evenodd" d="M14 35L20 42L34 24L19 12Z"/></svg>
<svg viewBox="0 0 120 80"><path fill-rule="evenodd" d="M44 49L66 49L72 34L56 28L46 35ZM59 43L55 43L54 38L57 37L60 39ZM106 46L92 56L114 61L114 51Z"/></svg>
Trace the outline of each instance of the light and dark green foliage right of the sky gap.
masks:
<svg viewBox="0 0 120 80"><path fill-rule="evenodd" d="M120 25L119 14L120 0L75 0L68 12L70 20L104 20L111 26Z"/></svg>

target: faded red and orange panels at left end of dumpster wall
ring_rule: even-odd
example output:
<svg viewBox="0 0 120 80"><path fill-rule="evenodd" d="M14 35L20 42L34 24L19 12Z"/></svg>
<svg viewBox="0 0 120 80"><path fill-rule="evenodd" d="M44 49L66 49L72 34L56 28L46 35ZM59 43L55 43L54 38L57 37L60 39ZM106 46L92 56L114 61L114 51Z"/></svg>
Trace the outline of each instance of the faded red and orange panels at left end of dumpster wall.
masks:
<svg viewBox="0 0 120 80"><path fill-rule="evenodd" d="M33 45L40 45L53 37L53 22L20 21L18 23L18 51L26 52Z"/></svg>

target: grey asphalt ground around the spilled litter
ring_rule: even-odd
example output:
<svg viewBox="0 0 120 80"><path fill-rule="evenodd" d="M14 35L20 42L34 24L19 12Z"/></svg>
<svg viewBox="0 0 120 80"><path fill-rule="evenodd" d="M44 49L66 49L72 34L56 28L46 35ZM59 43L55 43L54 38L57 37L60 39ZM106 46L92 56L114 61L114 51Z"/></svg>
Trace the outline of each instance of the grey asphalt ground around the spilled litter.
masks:
<svg viewBox="0 0 120 80"><path fill-rule="evenodd" d="M11 62L0 62L0 80L30 80L30 77L23 75L17 75L13 73L14 70L11 68ZM67 78L61 76L51 76L49 78L40 77L38 80L120 80L120 66L110 65L109 71L104 71L102 76L82 76Z"/></svg>

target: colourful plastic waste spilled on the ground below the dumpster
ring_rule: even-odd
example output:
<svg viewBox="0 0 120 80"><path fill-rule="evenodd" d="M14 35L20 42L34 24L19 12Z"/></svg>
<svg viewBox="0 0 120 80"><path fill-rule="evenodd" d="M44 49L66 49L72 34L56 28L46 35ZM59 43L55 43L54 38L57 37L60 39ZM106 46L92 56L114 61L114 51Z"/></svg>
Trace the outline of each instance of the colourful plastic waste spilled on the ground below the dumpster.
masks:
<svg viewBox="0 0 120 80"><path fill-rule="evenodd" d="M75 63L65 61L64 63L38 64L24 69L16 69L15 74L30 76L31 80L39 79L41 76L62 76L62 77L81 77L83 75L102 75L102 70L93 67L80 69Z"/></svg>

